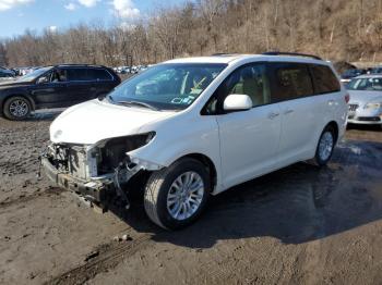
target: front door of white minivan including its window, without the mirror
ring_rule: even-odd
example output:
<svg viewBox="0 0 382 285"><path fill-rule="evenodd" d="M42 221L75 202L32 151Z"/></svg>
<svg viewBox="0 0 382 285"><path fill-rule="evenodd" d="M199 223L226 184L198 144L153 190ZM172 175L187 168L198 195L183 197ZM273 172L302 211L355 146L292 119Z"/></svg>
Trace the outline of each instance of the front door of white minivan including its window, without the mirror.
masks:
<svg viewBox="0 0 382 285"><path fill-rule="evenodd" d="M217 90L218 109L229 94L251 97L253 108L216 116L223 183L230 187L275 168L280 134L279 104L271 103L266 63L253 63L235 71Z"/></svg>

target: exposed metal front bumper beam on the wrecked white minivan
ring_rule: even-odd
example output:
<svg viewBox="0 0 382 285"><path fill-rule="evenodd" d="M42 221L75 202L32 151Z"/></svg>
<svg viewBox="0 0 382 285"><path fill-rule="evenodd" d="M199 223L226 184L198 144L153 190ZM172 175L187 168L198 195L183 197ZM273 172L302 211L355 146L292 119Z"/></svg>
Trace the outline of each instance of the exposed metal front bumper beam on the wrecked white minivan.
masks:
<svg viewBox="0 0 382 285"><path fill-rule="evenodd" d="M73 191L92 202L105 203L116 193L111 178L82 181L59 172L47 158L41 158L41 164L47 177L56 186Z"/></svg>

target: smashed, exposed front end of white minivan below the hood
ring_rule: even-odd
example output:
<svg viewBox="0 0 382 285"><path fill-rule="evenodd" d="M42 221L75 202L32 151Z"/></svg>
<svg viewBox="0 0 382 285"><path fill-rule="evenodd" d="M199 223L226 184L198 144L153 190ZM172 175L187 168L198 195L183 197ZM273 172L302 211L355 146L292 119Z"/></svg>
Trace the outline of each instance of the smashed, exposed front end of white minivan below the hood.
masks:
<svg viewBox="0 0 382 285"><path fill-rule="evenodd" d="M129 207L129 182L138 173L162 166L131 158L128 152L147 145L155 133L117 137L95 145L50 144L41 154L45 173L57 186L107 209L115 202Z"/></svg>

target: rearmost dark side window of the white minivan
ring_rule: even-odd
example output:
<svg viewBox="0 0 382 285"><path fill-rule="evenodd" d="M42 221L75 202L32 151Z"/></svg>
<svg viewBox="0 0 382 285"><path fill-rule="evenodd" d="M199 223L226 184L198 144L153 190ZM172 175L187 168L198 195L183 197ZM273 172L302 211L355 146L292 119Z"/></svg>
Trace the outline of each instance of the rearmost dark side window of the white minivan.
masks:
<svg viewBox="0 0 382 285"><path fill-rule="evenodd" d="M310 65L315 94L337 92L341 86L333 71L326 65Z"/></svg>

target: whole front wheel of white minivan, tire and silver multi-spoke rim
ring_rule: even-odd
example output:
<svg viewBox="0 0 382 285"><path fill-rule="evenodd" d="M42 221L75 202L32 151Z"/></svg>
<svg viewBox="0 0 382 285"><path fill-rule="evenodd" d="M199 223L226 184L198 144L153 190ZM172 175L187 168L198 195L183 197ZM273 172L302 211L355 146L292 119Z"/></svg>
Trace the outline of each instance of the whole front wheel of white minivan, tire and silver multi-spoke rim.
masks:
<svg viewBox="0 0 382 285"><path fill-rule="evenodd" d="M210 190L207 169L198 160L181 159L151 175L144 190L144 208L157 225L182 228L201 215Z"/></svg>

